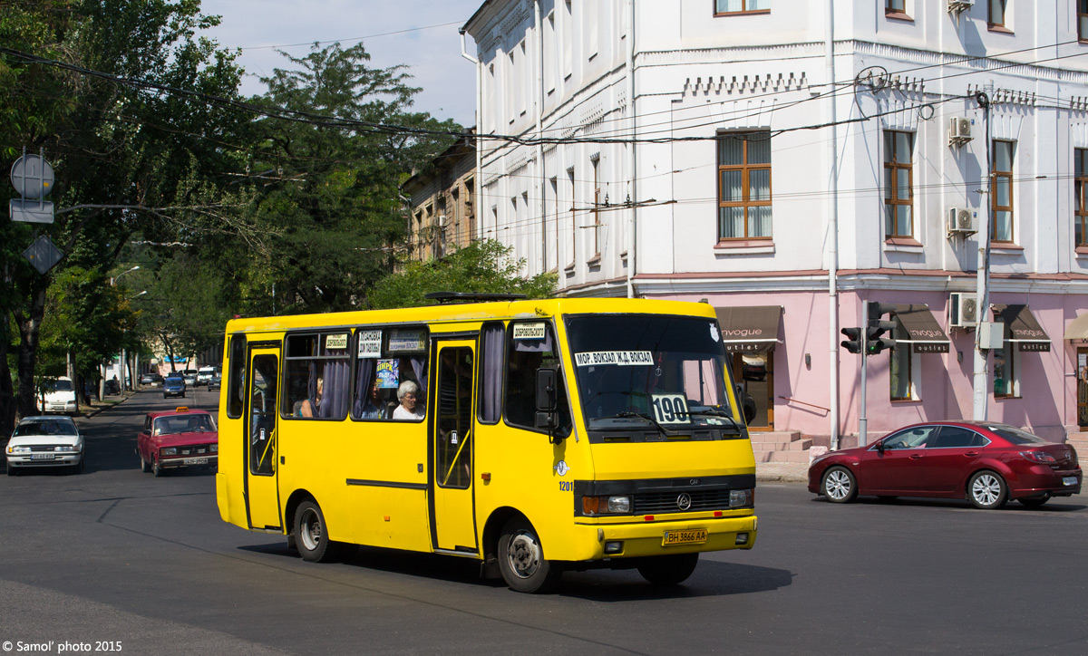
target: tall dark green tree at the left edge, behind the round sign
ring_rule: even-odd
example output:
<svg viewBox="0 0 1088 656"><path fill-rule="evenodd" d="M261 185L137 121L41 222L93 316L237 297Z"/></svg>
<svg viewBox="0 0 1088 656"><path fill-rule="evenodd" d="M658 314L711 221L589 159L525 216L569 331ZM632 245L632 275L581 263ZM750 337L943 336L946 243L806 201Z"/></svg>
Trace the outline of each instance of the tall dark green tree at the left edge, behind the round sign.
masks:
<svg viewBox="0 0 1088 656"><path fill-rule="evenodd" d="M11 161L23 147L44 150L60 208L51 225L0 223L0 426L33 411L55 276L69 268L104 274L137 233L171 240L231 225L213 215L225 213L215 188L238 164L230 139L249 116L163 90L237 97L232 57L196 36L217 22L197 0L9 0L0 11L0 152ZM21 255L36 232L64 253L46 275Z"/></svg>

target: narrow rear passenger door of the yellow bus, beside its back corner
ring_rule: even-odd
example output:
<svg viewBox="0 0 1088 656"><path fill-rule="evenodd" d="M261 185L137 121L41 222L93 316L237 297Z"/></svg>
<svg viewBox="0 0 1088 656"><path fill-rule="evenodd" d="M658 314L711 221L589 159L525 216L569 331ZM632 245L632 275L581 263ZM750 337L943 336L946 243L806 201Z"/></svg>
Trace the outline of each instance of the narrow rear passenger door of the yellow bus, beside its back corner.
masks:
<svg viewBox="0 0 1088 656"><path fill-rule="evenodd" d="M280 349L252 348L246 381L246 509L251 529L282 529L276 485Z"/></svg>

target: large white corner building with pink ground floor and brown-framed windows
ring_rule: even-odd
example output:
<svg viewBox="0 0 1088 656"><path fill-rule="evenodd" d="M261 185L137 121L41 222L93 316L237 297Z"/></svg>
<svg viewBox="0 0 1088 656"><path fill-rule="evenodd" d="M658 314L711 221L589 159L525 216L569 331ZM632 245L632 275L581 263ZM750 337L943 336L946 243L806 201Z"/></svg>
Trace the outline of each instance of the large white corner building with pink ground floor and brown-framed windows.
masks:
<svg viewBox="0 0 1088 656"><path fill-rule="evenodd" d="M479 236L566 295L718 308L755 430L853 440L839 329L868 301L900 339L865 358L868 441L980 405L1063 440L1088 425L1079 4L487 0Z"/></svg>

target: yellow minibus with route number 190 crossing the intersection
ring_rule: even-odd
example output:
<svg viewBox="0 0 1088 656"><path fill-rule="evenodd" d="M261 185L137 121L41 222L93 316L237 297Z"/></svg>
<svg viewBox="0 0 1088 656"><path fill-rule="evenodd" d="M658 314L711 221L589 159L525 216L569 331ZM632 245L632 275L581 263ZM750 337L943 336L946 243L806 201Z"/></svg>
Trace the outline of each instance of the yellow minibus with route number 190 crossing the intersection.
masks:
<svg viewBox="0 0 1088 656"><path fill-rule="evenodd" d="M302 558L472 558L514 590L755 544L755 461L706 304L435 294L226 325L217 499Z"/></svg>

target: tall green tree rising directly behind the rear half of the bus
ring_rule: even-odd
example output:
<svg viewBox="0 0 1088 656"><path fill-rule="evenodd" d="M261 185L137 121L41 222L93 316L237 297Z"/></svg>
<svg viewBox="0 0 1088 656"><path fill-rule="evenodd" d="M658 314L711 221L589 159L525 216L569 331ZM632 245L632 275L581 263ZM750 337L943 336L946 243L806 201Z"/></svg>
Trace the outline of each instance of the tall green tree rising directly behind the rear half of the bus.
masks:
<svg viewBox="0 0 1088 656"><path fill-rule="evenodd" d="M361 44L314 45L306 57L288 57L293 70L263 78L269 90L256 102L311 120L255 127L246 184L256 195L255 221L274 238L263 249L238 243L220 250L221 269L238 272L233 284L244 313L357 306L391 270L391 247L406 228L398 184L452 143L443 133L460 129L411 112L419 89L410 76L371 67L369 59ZM395 127L405 125L422 132Z"/></svg>

